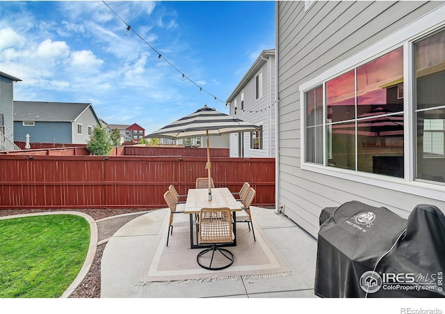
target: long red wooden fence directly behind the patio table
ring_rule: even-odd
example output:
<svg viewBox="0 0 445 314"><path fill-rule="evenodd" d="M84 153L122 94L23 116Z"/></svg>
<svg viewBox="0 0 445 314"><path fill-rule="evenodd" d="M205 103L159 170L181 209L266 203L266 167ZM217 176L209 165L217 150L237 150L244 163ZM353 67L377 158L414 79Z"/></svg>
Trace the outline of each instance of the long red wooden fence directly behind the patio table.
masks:
<svg viewBox="0 0 445 314"><path fill-rule="evenodd" d="M161 208L206 177L206 157L0 155L0 210ZM216 187L257 190L254 205L275 205L275 159L212 157Z"/></svg>

